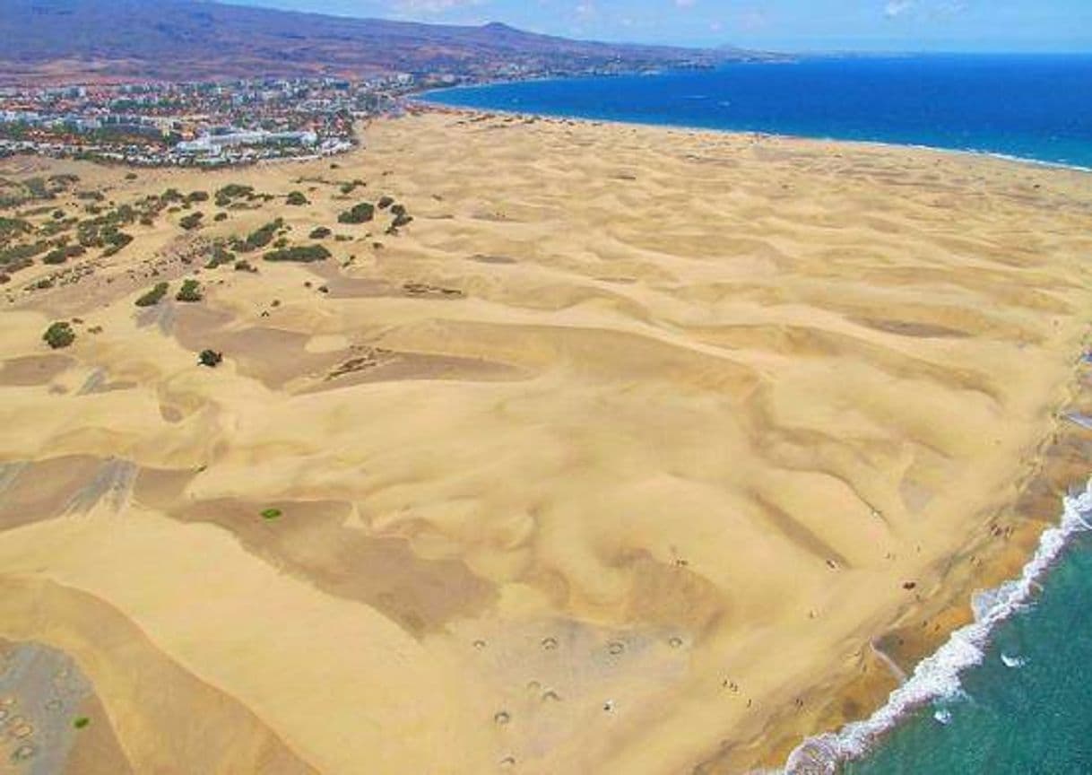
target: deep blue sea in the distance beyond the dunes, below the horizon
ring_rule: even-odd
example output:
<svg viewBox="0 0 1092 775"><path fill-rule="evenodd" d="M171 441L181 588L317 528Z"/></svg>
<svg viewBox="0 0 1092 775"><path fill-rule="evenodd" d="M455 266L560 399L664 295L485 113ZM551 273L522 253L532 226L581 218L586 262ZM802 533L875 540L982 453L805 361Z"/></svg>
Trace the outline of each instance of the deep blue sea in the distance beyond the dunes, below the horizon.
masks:
<svg viewBox="0 0 1092 775"><path fill-rule="evenodd" d="M1092 168L1092 54L807 58L431 92L447 105L868 140Z"/></svg>

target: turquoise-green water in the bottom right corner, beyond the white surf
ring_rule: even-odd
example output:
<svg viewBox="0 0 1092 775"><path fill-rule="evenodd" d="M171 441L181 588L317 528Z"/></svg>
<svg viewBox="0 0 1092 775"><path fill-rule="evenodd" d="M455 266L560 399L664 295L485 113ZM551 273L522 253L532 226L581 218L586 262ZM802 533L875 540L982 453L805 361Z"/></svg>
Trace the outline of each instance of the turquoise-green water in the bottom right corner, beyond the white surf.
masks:
<svg viewBox="0 0 1092 775"><path fill-rule="evenodd" d="M1092 773L1090 601L1092 540L1081 537L1033 607L997 629L962 696L914 714L846 775Z"/></svg>

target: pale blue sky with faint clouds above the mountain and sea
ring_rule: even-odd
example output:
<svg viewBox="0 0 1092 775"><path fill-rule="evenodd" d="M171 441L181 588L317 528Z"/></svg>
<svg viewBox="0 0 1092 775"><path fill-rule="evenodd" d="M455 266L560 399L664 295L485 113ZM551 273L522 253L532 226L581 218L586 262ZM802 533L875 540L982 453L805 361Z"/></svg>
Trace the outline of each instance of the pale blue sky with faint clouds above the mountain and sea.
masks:
<svg viewBox="0 0 1092 775"><path fill-rule="evenodd" d="M229 0L346 16L505 22L598 40L784 51L1092 52L1092 0Z"/></svg>

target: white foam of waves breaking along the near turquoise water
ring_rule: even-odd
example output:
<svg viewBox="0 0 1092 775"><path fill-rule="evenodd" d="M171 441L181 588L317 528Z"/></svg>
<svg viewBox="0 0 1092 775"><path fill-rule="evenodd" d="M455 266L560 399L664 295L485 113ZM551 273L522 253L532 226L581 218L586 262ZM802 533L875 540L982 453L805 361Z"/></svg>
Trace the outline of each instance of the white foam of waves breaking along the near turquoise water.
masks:
<svg viewBox="0 0 1092 775"><path fill-rule="evenodd" d="M867 753L910 712L938 700L959 696L962 691L960 673L983 660L997 624L1030 603L1038 589L1038 580L1071 536L1092 530L1092 480L1083 492L1066 496L1063 505L1061 521L1043 532L1038 549L1020 577L974 596L973 623L953 632L945 645L923 659L906 682L891 692L887 704L869 718L804 741L790 754L783 771L785 775L834 775L841 764Z"/></svg>

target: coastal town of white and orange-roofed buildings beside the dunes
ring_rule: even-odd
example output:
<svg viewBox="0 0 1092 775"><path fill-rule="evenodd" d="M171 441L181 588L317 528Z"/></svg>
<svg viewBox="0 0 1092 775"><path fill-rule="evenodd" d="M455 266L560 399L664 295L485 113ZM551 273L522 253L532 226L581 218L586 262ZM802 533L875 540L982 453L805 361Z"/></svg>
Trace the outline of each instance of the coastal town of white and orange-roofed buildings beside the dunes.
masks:
<svg viewBox="0 0 1092 775"><path fill-rule="evenodd" d="M432 85L447 82L397 73L0 89L0 157L151 167L329 156L356 145L354 122L397 113L404 95Z"/></svg>

